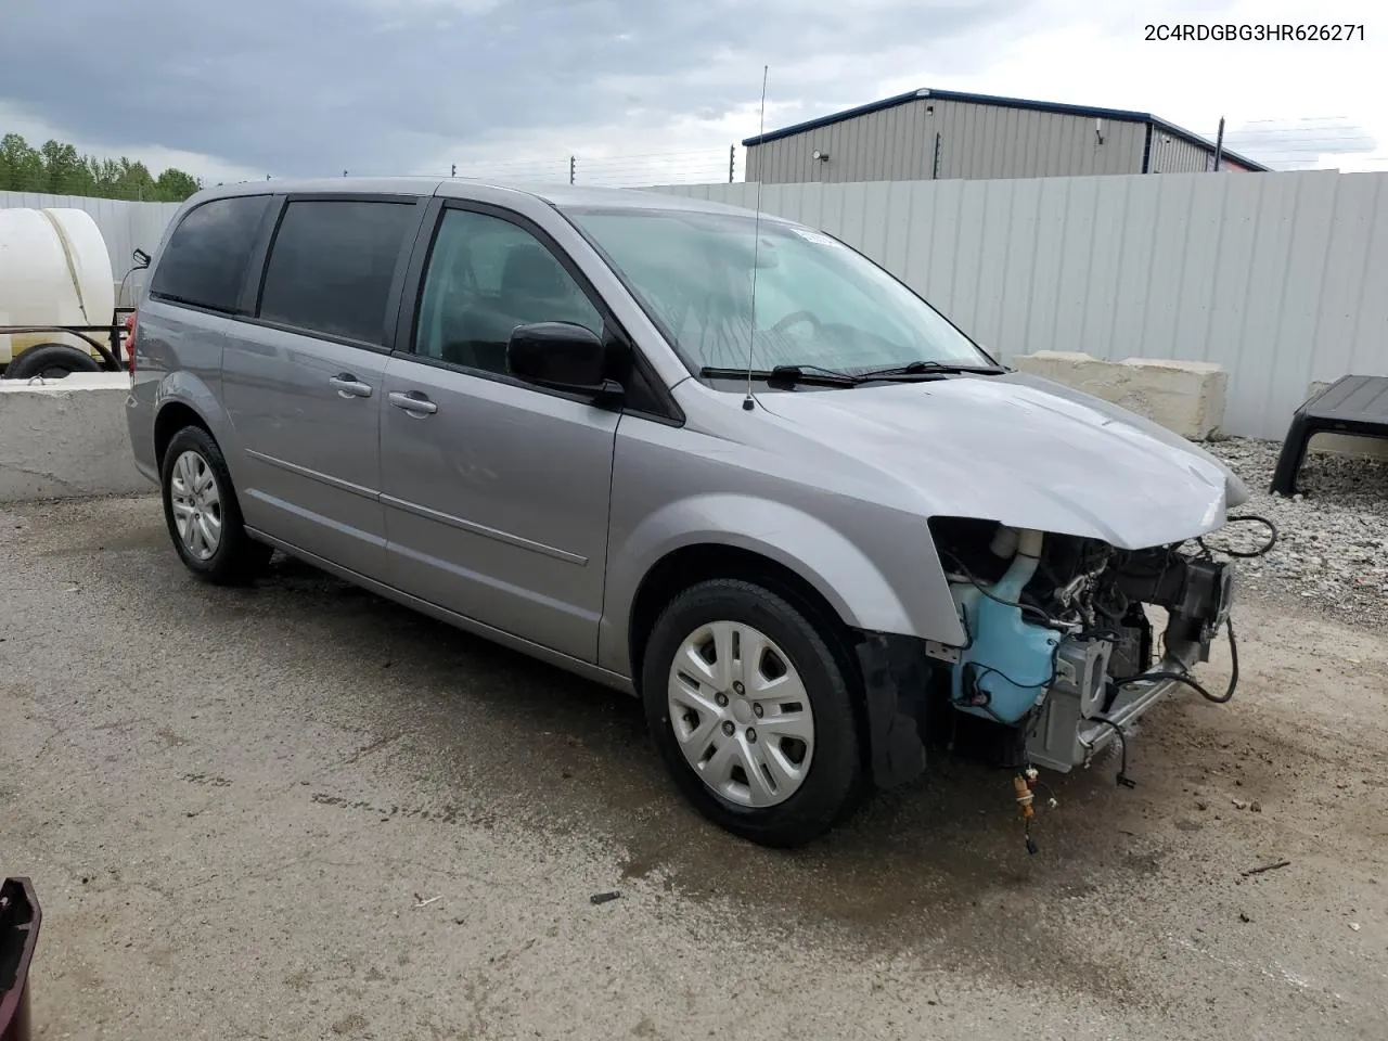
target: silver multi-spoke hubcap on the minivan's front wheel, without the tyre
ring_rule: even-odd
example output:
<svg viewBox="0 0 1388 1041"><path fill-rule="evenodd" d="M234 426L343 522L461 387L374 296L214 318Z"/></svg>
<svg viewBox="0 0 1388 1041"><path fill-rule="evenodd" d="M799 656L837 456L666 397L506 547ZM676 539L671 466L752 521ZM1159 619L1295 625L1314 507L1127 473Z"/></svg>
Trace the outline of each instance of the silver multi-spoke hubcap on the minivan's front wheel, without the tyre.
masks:
<svg viewBox="0 0 1388 1041"><path fill-rule="evenodd" d="M815 752L805 684L772 640L741 622L690 633L670 665L670 725L704 783L743 806L794 795Z"/></svg>

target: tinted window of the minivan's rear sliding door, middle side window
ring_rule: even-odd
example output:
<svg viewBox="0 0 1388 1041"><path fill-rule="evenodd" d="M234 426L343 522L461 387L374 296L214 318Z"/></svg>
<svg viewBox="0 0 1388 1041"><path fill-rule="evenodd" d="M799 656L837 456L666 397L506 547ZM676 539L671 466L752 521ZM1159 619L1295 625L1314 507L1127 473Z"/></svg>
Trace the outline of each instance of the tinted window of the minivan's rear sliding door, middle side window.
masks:
<svg viewBox="0 0 1388 1041"><path fill-rule="evenodd" d="M415 219L411 203L290 203L271 247L260 316L383 344L390 283Z"/></svg>

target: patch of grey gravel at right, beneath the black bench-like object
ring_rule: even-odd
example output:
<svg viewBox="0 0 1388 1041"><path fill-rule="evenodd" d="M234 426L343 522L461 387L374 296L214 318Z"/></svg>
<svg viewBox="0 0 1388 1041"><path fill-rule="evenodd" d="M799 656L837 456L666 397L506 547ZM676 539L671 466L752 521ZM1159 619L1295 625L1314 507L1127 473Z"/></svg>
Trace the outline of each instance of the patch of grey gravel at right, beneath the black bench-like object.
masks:
<svg viewBox="0 0 1388 1041"><path fill-rule="evenodd" d="M1252 498L1237 514L1258 514L1277 525L1266 557L1241 561L1241 589L1269 602L1302 600L1305 607L1356 625L1388 627L1388 462L1312 452L1295 498L1267 491L1281 446L1233 439L1205 446L1249 486ZM1260 525L1233 525L1208 540L1212 548L1256 548Z"/></svg>

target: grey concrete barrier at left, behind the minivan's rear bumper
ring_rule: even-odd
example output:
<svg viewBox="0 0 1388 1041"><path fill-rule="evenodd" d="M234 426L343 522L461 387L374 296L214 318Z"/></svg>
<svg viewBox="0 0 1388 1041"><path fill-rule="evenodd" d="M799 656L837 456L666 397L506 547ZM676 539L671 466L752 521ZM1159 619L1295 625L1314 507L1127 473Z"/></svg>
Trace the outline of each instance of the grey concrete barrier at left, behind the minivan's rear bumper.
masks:
<svg viewBox="0 0 1388 1041"><path fill-rule="evenodd" d="M121 372L0 379L0 502L149 493L135 469Z"/></svg>

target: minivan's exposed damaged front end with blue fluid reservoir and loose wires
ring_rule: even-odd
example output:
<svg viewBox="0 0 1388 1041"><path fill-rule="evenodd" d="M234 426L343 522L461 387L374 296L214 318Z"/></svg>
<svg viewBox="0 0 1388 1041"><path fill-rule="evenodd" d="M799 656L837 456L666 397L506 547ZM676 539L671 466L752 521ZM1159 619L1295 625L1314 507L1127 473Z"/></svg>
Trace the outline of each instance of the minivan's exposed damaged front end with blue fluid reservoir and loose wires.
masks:
<svg viewBox="0 0 1388 1041"><path fill-rule="evenodd" d="M1123 745L1178 686L1233 695L1237 657L1224 694L1191 675L1221 629L1234 645L1234 565L1203 540L1120 550L963 518L933 519L931 534L965 640L915 654L894 638L862 645L879 783L923 766L927 745L1069 772Z"/></svg>

